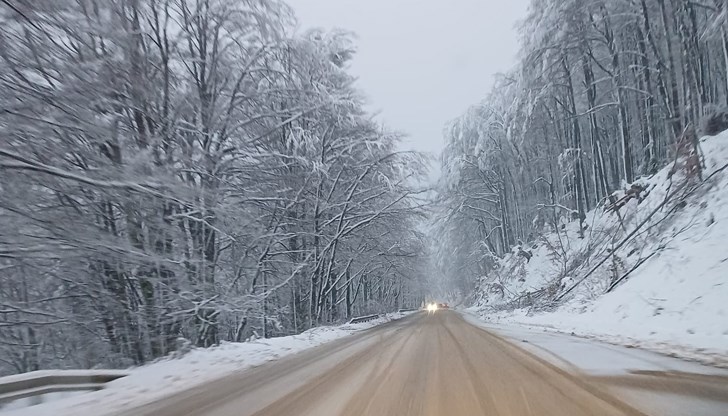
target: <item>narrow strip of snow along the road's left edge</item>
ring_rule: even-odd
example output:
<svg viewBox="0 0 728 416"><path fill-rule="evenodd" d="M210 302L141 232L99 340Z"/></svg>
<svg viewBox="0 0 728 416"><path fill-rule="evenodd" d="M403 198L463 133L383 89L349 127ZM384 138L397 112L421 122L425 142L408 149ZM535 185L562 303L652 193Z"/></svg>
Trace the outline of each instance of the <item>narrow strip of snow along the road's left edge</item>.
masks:
<svg viewBox="0 0 728 416"><path fill-rule="evenodd" d="M384 315L379 319L335 327L313 328L299 335L260 339L245 343L223 343L220 346L194 349L177 359L162 359L132 368L129 375L106 384L103 390L67 395L31 407L24 403L0 408L3 416L75 416L113 413L131 404L153 402L173 393L216 380L247 368L295 354L353 333L404 317L406 313Z"/></svg>

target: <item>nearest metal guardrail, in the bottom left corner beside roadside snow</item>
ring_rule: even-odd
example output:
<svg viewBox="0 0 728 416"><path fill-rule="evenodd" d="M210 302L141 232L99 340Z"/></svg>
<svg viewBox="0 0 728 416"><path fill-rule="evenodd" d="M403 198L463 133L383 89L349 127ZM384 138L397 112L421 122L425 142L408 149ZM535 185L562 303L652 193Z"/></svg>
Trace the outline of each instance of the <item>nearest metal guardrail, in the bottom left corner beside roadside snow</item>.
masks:
<svg viewBox="0 0 728 416"><path fill-rule="evenodd" d="M43 370L0 377L0 408L48 393L101 390L104 384L128 374L120 370Z"/></svg>

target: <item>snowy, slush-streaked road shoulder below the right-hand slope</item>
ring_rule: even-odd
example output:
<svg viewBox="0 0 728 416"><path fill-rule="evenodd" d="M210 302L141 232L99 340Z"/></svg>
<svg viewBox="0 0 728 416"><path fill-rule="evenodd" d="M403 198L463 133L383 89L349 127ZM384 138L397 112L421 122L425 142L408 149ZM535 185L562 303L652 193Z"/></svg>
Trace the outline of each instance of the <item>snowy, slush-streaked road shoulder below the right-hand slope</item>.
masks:
<svg viewBox="0 0 728 416"><path fill-rule="evenodd" d="M633 407L662 416L728 414L728 370L639 348L514 324L470 324L565 371L579 374Z"/></svg>

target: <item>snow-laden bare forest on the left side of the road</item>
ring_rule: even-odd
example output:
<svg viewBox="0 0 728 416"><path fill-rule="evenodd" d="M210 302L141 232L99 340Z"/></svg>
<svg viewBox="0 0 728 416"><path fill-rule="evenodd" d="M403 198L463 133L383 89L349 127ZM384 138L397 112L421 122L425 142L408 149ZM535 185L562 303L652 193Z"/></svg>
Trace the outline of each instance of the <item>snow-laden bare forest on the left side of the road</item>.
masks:
<svg viewBox="0 0 728 416"><path fill-rule="evenodd" d="M0 375L419 306L426 158L275 0L0 6Z"/></svg>

